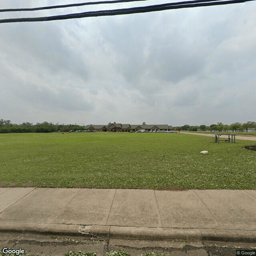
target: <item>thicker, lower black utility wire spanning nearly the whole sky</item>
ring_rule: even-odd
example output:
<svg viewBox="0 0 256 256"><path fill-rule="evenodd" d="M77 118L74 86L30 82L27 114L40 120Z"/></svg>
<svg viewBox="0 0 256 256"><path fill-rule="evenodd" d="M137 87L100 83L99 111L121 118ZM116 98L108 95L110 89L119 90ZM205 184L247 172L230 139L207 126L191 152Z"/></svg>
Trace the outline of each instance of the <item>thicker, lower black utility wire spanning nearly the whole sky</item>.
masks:
<svg viewBox="0 0 256 256"><path fill-rule="evenodd" d="M206 0L207 1L207 0ZM192 8L200 6L215 6L215 5L224 5L224 4L238 4L255 0L225 0L225 1L188 1L188 2L175 2L168 4L158 4L152 6L143 6L143 7L132 7L125 9L116 9L116 10L101 10L101 11L92 11L92 12L81 12L74 14L65 14L58 16L48 16L48 17L36 17L36 18L11 18L0 20L0 23L10 23L10 22L38 22L38 21L50 21L50 20L66 20L74 18L85 18L85 17L97 17L97 16L113 16L113 15L124 15L124 14L135 14L143 12L156 12L162 10L171 10L171 9L180 9L180 8Z"/></svg>

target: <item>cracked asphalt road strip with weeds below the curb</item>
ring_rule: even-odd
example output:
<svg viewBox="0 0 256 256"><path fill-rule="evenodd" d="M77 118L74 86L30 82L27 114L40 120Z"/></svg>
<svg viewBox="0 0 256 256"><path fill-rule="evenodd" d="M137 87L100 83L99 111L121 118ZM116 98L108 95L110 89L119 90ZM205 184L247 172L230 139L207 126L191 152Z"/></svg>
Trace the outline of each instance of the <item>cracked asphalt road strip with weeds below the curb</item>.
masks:
<svg viewBox="0 0 256 256"><path fill-rule="evenodd" d="M83 240L83 237L67 237L39 234L0 233L0 248L22 248L27 254L40 256L64 256L67 252L95 251L97 256L106 252L125 250L131 256L154 252L170 256L234 256L238 248L256 249L256 244L202 244L189 242L117 240Z"/></svg>

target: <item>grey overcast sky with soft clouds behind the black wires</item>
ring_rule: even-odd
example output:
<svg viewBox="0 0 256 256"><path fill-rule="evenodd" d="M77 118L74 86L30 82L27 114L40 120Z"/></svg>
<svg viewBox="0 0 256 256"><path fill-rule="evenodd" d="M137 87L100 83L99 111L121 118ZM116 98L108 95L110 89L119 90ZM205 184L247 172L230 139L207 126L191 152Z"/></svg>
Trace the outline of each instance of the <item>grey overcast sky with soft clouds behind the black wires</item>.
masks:
<svg viewBox="0 0 256 256"><path fill-rule="evenodd" d="M86 1L2 0L0 8L78 2ZM0 12L0 19L166 2ZM0 89L0 119L17 124L256 121L256 2L0 24Z"/></svg>

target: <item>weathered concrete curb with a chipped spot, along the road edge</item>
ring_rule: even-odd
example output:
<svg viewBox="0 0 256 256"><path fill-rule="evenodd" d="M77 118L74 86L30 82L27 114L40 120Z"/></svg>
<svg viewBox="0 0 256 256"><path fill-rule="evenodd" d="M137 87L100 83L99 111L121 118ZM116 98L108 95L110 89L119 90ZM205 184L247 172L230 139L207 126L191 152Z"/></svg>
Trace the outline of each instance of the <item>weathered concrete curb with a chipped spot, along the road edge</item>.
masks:
<svg viewBox="0 0 256 256"><path fill-rule="evenodd" d="M29 232L80 236L90 240L129 239L177 242L244 242L256 243L256 230L217 230L202 228L146 228L100 225L38 224L0 222L0 232Z"/></svg>

